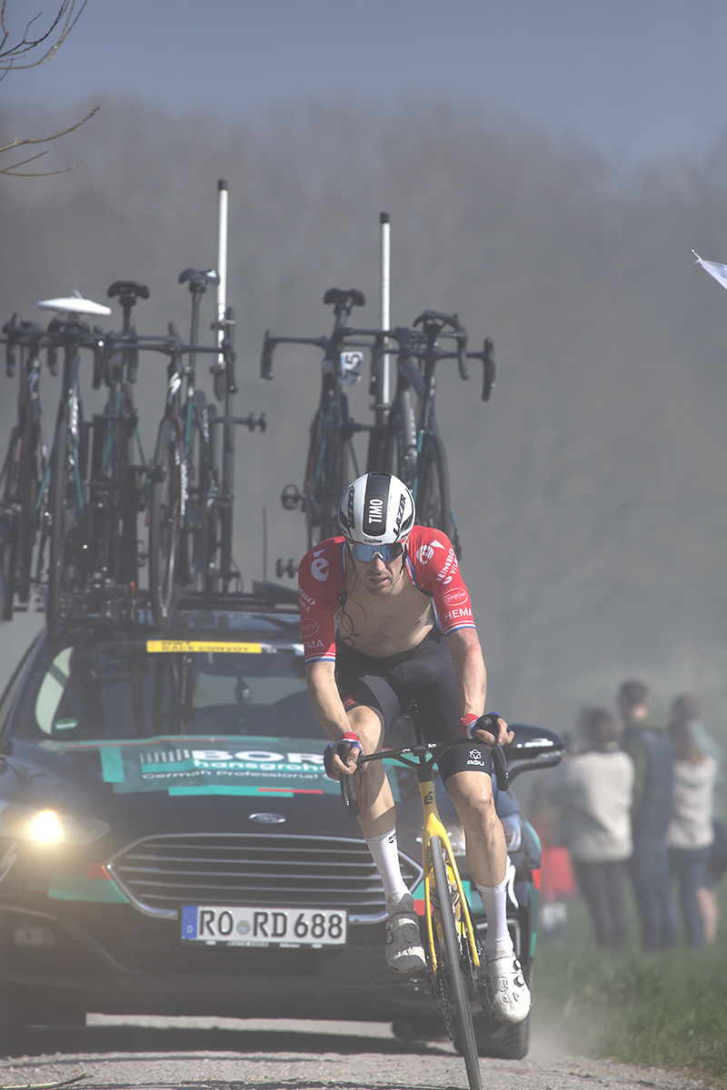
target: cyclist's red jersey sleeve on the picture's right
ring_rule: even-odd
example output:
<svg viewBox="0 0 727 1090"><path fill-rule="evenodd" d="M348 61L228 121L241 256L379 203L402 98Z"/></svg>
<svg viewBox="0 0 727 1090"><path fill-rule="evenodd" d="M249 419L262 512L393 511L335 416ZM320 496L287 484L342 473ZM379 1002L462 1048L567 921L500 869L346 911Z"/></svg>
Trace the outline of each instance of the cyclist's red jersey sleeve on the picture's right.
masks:
<svg viewBox="0 0 727 1090"><path fill-rule="evenodd" d="M409 537L409 556L414 584L432 595L444 634L475 628L470 594L449 537L440 530L414 526Z"/></svg>

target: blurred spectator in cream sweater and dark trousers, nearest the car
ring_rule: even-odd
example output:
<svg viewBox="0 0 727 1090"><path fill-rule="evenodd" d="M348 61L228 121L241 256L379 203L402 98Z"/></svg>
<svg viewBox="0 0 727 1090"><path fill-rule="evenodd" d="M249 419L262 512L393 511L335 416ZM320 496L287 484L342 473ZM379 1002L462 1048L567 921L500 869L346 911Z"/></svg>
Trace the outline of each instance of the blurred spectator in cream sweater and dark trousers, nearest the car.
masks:
<svg viewBox="0 0 727 1090"><path fill-rule="evenodd" d="M584 750L562 762L548 796L560 807L560 839L568 845L596 942L620 949L628 932L625 874L631 855L633 763L619 748L622 727L610 712L586 708L579 729Z"/></svg>

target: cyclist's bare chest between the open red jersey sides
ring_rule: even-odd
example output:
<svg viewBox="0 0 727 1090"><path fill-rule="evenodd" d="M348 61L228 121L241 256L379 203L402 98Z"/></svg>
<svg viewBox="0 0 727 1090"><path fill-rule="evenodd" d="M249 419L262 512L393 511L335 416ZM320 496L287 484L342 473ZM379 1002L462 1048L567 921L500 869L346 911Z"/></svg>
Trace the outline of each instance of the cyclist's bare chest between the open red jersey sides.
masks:
<svg viewBox="0 0 727 1090"><path fill-rule="evenodd" d="M373 658L410 651L434 627L432 602L404 572L402 584L376 595L354 584L348 592L339 639Z"/></svg>

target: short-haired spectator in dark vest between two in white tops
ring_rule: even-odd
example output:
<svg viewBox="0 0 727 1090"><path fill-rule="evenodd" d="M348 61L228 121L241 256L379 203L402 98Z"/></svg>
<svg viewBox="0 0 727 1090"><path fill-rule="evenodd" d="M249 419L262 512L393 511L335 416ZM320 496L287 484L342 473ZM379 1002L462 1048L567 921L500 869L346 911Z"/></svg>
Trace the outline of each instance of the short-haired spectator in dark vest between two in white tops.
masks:
<svg viewBox="0 0 727 1090"><path fill-rule="evenodd" d="M643 681L625 681L617 703L625 726L622 748L634 766L630 872L642 945L645 950L661 950L675 946L678 938L666 846L674 795L671 739L649 715Z"/></svg>

